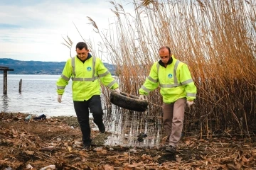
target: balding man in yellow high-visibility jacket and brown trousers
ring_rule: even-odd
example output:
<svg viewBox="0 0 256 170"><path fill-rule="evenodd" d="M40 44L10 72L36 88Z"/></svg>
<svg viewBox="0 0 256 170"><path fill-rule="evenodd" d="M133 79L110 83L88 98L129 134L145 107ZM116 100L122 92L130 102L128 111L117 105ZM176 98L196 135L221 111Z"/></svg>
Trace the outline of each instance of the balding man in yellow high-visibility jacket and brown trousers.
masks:
<svg viewBox="0 0 256 170"><path fill-rule="evenodd" d="M193 105L196 98L196 86L191 78L188 66L171 55L169 47L159 49L161 60L151 67L149 77L139 89L139 99L146 100L146 95L158 86L163 96L163 123L169 146L166 152L175 153L176 145L181 140L186 104Z"/></svg>

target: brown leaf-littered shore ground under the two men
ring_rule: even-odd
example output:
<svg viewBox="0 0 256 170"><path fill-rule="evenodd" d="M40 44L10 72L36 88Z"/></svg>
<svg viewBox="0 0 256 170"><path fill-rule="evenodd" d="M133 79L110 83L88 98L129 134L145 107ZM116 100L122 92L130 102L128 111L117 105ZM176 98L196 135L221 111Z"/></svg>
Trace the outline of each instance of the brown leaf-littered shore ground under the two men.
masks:
<svg viewBox="0 0 256 170"><path fill-rule="evenodd" d="M105 115L105 134L91 123L92 147L85 150L76 118L25 117L0 113L0 169L256 169L255 136L223 133L208 140L195 132L169 154L160 120L114 113Z"/></svg>

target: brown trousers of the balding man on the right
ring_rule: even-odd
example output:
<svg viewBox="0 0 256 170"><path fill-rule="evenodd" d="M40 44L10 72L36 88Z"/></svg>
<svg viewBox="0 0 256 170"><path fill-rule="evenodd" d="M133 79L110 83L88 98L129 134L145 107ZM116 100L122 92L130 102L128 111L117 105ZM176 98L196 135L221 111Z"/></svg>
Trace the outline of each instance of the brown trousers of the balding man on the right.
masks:
<svg viewBox="0 0 256 170"><path fill-rule="evenodd" d="M164 103L164 129L169 135L169 145L176 147L181 140L183 129L184 112L186 107L186 98L179 98L174 103Z"/></svg>

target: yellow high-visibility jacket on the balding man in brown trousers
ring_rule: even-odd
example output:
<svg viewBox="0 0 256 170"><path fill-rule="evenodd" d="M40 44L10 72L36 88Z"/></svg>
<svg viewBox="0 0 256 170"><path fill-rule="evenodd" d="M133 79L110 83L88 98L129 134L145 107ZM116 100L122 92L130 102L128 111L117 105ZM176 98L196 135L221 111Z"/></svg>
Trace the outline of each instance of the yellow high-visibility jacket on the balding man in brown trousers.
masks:
<svg viewBox="0 0 256 170"><path fill-rule="evenodd" d="M139 89L139 94L148 95L158 86L164 103L174 103L178 98L187 98L193 101L196 98L196 86L191 78L188 66L172 55L172 62L163 67L155 62L151 67L149 77Z"/></svg>

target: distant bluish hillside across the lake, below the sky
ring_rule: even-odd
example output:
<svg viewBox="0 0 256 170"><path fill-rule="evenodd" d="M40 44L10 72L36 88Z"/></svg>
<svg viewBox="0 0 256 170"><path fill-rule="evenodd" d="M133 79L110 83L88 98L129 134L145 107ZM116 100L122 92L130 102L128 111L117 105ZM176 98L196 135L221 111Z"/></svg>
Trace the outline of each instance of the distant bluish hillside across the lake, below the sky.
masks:
<svg viewBox="0 0 256 170"><path fill-rule="evenodd" d="M115 68L113 64L104 63L114 75ZM9 71L8 74L61 74L65 66L65 62L38 62L38 61L20 61L9 58L1 58L0 66L9 67L14 71ZM0 71L3 74L3 71Z"/></svg>

